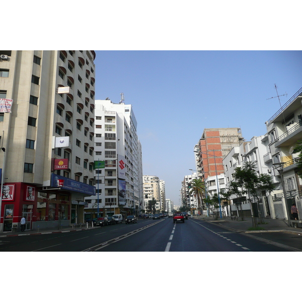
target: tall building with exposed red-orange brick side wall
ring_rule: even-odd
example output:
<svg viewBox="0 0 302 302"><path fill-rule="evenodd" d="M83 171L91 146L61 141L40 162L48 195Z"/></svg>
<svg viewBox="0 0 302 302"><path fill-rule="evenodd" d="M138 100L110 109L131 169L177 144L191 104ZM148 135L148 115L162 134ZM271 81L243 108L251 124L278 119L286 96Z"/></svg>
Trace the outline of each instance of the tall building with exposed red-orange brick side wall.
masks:
<svg viewBox="0 0 302 302"><path fill-rule="evenodd" d="M230 150L243 141L240 128L206 128L194 147L198 177L205 180L208 176L224 172L222 159Z"/></svg>

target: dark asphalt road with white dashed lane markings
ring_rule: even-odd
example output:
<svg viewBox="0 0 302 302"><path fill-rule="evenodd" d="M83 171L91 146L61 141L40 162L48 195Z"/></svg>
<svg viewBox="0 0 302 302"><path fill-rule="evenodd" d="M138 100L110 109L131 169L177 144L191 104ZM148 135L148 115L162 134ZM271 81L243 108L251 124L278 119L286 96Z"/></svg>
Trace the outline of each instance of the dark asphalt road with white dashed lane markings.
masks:
<svg viewBox="0 0 302 302"><path fill-rule="evenodd" d="M262 236L262 235L258 235ZM263 237L263 236L262 236ZM8 237L0 251L13 252L286 252L270 244L194 218L144 219L80 232Z"/></svg>

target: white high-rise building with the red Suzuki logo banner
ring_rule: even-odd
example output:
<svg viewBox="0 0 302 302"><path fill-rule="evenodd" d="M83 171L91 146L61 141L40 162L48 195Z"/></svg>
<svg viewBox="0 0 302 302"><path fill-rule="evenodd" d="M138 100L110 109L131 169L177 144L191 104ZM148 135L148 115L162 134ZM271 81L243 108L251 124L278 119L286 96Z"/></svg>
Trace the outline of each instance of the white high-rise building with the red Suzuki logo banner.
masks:
<svg viewBox="0 0 302 302"><path fill-rule="evenodd" d="M87 219L138 214L142 205L142 155L131 105L95 101L96 196L87 197Z"/></svg>

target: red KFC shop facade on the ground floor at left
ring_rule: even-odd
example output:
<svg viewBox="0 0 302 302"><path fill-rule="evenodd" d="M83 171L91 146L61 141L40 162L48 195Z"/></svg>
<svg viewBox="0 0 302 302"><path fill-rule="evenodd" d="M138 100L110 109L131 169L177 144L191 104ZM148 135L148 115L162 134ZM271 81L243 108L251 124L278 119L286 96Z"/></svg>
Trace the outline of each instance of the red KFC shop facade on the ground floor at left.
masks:
<svg viewBox="0 0 302 302"><path fill-rule="evenodd" d="M69 225L70 192L41 190L26 183L5 183L2 190L0 231L20 231L21 218L25 230Z"/></svg>

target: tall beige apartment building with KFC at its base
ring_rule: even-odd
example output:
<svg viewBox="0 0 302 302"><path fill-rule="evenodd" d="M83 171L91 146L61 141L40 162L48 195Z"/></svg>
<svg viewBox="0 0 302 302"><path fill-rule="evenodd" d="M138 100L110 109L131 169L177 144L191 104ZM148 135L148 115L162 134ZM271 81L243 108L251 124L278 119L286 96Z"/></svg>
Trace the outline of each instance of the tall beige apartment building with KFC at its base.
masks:
<svg viewBox="0 0 302 302"><path fill-rule="evenodd" d="M95 56L0 51L4 231L22 216L27 230L84 222L84 197L95 194Z"/></svg>

